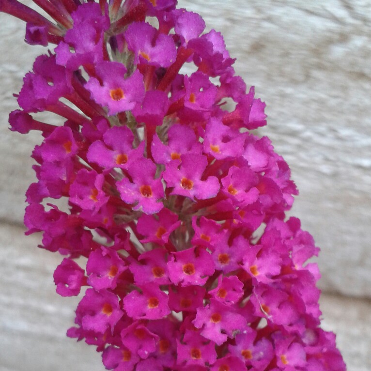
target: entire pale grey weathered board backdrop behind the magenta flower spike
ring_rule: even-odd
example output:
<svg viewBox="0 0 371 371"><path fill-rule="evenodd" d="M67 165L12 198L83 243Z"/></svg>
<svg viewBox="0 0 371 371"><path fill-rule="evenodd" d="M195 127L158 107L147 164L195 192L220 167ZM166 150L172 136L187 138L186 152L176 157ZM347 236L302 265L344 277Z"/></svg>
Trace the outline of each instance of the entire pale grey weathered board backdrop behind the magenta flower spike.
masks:
<svg viewBox="0 0 371 371"><path fill-rule="evenodd" d="M235 70L267 104L272 139L300 195L291 215L321 247L323 327L349 371L371 370L371 1L179 0L224 35ZM12 96L43 47L0 14L0 370L103 370L67 339L76 298L55 293L59 256L24 237L24 193L38 134L8 130Z"/></svg>

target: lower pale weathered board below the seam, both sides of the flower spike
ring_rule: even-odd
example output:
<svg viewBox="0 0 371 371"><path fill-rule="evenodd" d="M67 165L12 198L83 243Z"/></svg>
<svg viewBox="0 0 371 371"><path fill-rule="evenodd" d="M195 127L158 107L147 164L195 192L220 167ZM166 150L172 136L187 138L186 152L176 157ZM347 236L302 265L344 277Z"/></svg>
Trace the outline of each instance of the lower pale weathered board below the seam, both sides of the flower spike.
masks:
<svg viewBox="0 0 371 371"><path fill-rule="evenodd" d="M65 337L78 298L56 294L52 275L62 257L36 248L38 241L20 227L0 226L0 370L103 370L93 346ZM321 309L348 371L369 371L370 301L323 295Z"/></svg>

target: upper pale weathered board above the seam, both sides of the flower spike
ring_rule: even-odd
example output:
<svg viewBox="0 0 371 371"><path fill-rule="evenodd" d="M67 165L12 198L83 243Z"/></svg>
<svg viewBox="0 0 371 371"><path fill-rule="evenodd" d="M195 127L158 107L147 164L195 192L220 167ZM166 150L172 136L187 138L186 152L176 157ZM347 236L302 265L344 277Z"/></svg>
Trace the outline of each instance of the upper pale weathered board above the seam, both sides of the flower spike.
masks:
<svg viewBox="0 0 371 371"><path fill-rule="evenodd" d="M300 189L293 215L322 247L323 289L371 296L371 16L368 1L180 0L222 31L267 103L268 135ZM41 48L0 15L0 218L20 223L38 135L10 133L12 93Z"/></svg>

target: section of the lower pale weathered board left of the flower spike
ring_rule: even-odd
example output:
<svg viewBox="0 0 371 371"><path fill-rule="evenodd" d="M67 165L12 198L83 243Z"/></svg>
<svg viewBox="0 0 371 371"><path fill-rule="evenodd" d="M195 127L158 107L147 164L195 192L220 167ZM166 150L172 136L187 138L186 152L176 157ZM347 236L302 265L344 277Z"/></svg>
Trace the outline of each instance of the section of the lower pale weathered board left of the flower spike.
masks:
<svg viewBox="0 0 371 371"><path fill-rule="evenodd" d="M103 370L93 347L65 336L78 299L55 292L62 257L37 248L40 236L23 232L0 226L0 370Z"/></svg>

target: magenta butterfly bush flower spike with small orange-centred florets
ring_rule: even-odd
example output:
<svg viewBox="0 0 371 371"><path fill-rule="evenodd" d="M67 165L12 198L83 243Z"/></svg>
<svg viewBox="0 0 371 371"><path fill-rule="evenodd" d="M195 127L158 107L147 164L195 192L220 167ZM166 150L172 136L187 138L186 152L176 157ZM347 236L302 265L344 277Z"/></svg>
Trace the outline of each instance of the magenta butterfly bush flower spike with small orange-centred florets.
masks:
<svg viewBox="0 0 371 371"><path fill-rule="evenodd" d="M56 45L10 124L44 137L25 224L64 257L57 293L83 289L67 335L115 371L345 370L320 327L318 248L285 221L289 167L251 132L265 104L221 34L176 0L35 2L53 20L0 2L27 43Z"/></svg>

